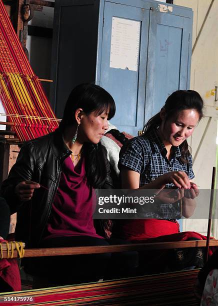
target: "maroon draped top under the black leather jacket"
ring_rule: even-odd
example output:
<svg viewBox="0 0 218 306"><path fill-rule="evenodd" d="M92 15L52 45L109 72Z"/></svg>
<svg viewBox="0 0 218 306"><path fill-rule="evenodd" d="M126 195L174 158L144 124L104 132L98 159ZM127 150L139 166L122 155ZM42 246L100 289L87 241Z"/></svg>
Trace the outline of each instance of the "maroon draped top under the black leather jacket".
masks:
<svg viewBox="0 0 218 306"><path fill-rule="evenodd" d="M95 192L87 184L84 158L76 169L67 157L44 232L44 239L57 236L86 235L102 238L93 226Z"/></svg>

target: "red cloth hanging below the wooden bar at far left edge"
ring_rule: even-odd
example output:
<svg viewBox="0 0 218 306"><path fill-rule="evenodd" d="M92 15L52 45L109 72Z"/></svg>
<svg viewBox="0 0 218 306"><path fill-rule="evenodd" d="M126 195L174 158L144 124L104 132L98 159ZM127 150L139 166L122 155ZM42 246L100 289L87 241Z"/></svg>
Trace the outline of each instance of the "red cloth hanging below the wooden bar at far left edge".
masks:
<svg viewBox="0 0 218 306"><path fill-rule="evenodd" d="M6 240L0 240L1 242L7 242ZM21 282L19 268L16 258L0 259L0 278L10 286L11 291L20 291ZM0 290L1 292L1 290Z"/></svg>

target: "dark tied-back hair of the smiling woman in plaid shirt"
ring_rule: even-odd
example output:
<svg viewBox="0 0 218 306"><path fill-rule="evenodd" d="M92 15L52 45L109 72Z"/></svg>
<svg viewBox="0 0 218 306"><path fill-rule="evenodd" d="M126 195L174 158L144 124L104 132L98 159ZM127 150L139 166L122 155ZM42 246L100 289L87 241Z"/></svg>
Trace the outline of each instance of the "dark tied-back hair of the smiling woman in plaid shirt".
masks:
<svg viewBox="0 0 218 306"><path fill-rule="evenodd" d="M194 90L176 90L170 94L163 106L166 112L166 120L172 115L184 109L195 109L199 114L199 120L203 116L203 100L199 93ZM143 127L143 135L151 129L156 129L161 123L160 112L150 118ZM184 140L180 145L181 161L186 163L187 156L190 154L187 141Z"/></svg>

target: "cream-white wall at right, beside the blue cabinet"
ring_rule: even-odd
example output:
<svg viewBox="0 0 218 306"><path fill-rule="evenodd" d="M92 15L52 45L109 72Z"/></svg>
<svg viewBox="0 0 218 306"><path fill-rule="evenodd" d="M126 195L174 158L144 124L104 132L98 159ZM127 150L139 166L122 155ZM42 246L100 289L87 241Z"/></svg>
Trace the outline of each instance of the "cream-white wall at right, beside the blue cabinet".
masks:
<svg viewBox="0 0 218 306"><path fill-rule="evenodd" d="M192 46L211 0L174 0L173 4L193 9ZM194 181L200 189L210 189L212 167L216 164L216 135L218 119L218 102L214 101L214 88L218 84L218 35L217 35L218 1L215 0L205 21L191 58L190 89L200 93L204 100L204 118L194 131L190 144L195 156L193 170ZM203 190L202 190L203 192ZM207 204L207 203L205 203ZM218 236L217 220L213 220L212 235ZM207 219L185 220L183 230L195 230L203 234L207 231Z"/></svg>

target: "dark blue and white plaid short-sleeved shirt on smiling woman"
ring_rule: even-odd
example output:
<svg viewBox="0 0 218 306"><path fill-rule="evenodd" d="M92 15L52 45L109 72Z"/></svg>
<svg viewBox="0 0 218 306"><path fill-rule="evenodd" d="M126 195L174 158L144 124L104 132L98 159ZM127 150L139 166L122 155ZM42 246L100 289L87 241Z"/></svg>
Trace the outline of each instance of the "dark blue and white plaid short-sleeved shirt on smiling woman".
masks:
<svg viewBox="0 0 218 306"><path fill-rule="evenodd" d="M166 157L166 148L155 130L144 136L137 136L127 141L119 153L118 168L123 165L140 173L139 186L153 181L158 176L170 171L184 171L189 179L194 177L192 171L191 154L187 157L187 163L180 160L181 153L178 146L173 146L173 154L170 160ZM166 184L172 188L173 184ZM146 212L144 218L178 219L181 217L179 202L162 203L158 205L156 212Z"/></svg>

